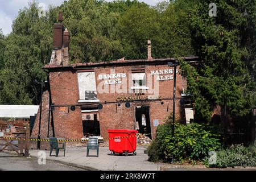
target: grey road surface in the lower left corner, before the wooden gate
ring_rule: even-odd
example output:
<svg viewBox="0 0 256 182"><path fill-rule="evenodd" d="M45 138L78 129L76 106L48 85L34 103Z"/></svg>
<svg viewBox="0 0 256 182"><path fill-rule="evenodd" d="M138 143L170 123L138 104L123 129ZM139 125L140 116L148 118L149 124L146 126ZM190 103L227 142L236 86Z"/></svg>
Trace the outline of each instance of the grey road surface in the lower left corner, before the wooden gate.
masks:
<svg viewBox="0 0 256 182"><path fill-rule="evenodd" d="M81 171L80 168L47 161L39 165L36 158L20 158L15 155L0 153L0 171Z"/></svg>

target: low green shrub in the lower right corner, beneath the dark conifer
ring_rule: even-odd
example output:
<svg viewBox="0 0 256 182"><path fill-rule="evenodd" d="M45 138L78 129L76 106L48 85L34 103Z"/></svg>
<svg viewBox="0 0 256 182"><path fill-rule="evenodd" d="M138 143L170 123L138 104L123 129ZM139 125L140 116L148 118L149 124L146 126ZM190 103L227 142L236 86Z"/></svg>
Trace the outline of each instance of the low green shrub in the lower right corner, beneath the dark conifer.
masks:
<svg viewBox="0 0 256 182"><path fill-rule="evenodd" d="M237 144L226 149L217 151L216 164L209 164L208 157L205 158L204 164L208 167L235 167L235 166L256 166L256 146L251 145L245 147L242 144Z"/></svg>

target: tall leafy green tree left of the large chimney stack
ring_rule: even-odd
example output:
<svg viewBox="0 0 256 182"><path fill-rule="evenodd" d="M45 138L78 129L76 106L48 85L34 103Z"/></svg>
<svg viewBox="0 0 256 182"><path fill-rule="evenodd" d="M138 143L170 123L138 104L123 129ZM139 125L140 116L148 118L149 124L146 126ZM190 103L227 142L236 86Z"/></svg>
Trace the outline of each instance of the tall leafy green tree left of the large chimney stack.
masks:
<svg viewBox="0 0 256 182"><path fill-rule="evenodd" d="M52 52L52 23L39 18L33 2L19 11L13 32L5 39L4 64L0 71L1 104L39 104L40 86L34 79L46 80L43 65Z"/></svg>

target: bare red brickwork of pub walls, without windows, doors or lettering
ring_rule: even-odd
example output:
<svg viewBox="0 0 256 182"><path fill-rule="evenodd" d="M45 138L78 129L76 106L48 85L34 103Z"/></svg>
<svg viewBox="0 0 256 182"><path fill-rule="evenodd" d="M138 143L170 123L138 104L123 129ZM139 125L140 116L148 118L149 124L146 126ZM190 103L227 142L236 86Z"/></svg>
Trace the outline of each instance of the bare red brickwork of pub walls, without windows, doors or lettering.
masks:
<svg viewBox="0 0 256 182"><path fill-rule="evenodd" d="M136 66L133 66L136 67ZM115 102L118 96L135 96L134 93L129 93L129 84L127 83L127 93L101 93L98 90L98 85L102 80L98 80L98 75L100 74L110 74L110 69L115 69L115 73L126 73L126 78L129 79L129 73L131 73L132 66L121 66L121 67L98 67L95 69L96 85L97 85L97 97L100 102ZM150 74L152 70L160 69L173 69L167 65L146 65L145 72ZM168 74L169 75L169 74ZM174 75L174 74L170 74ZM154 79L154 76L152 77ZM114 79L114 78L113 78ZM112 79L112 80L113 80ZM123 80L123 81L124 81ZM149 80L147 79L147 82ZM159 82L159 96L162 98L172 98L173 97L173 85L174 80L164 80ZM51 97L52 103L55 105L53 110L53 123L55 137L57 138L82 138L82 114L80 106L76 106L76 110L72 111L69 106L77 105L79 101L79 86L77 80L77 72L69 71L54 71L49 73L49 83L51 85ZM112 85L119 86L119 85ZM154 88L154 81L152 87ZM111 86L108 85L109 92ZM184 117L184 108L179 104L179 98L182 92L182 82L181 76L177 73L176 78L176 117ZM48 127L48 102L49 93L44 93L43 99L43 109L42 109L42 126L41 126L41 136L47 137L47 127ZM148 94L144 95L147 96ZM152 94L149 94L152 95ZM143 96L143 97L144 97ZM150 122L151 131L153 133L153 138L156 127L154 127L154 119L159 119L159 124L163 123L164 119L168 114L172 113L172 100L163 100L163 105L160 101L149 101L150 105ZM100 118L100 129L102 137L108 137L108 129L134 129L135 121L135 105L131 103L129 108L125 107L122 103L117 106L117 103L113 104L103 104L103 109L99 110ZM141 104L143 106L143 102ZM168 108L168 109L167 109ZM89 114L89 113L84 113ZM38 134L38 121L39 113L36 118L34 130L32 132L33 137L37 137ZM52 131L52 129L50 130ZM52 134L52 133L51 133Z"/></svg>

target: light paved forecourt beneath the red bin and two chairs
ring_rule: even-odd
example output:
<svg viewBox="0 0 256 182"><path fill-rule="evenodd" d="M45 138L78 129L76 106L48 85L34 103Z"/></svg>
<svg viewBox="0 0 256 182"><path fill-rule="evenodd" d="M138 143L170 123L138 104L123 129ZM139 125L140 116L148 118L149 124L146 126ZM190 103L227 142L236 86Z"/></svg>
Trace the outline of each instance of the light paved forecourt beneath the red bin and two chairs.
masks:
<svg viewBox="0 0 256 182"><path fill-rule="evenodd" d="M47 159L60 162L63 164L80 167L88 170L104 170L104 171L159 171L160 163L148 162L147 154L144 154L145 146L137 147L137 155L130 154L129 156L110 155L108 147L100 147L98 158L96 150L90 150L89 156L86 157L86 147L69 147L63 156L63 150L59 152L59 156L49 156L49 151L46 152ZM38 157L39 150L30 150L30 156ZM53 155L54 155L53 151Z"/></svg>

